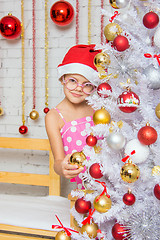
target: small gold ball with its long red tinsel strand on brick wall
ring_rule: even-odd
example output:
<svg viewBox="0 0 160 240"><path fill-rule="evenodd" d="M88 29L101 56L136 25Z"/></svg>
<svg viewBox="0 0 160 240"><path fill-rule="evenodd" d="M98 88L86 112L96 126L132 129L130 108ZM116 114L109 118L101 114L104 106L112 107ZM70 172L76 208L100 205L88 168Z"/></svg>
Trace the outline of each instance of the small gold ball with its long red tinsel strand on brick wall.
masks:
<svg viewBox="0 0 160 240"><path fill-rule="evenodd" d="M32 0L32 35L33 35L33 64L32 64L32 75L33 75L33 109L29 116L32 120L37 120L39 118L39 113L35 110L36 108L36 26L35 26L35 4L36 1Z"/></svg>

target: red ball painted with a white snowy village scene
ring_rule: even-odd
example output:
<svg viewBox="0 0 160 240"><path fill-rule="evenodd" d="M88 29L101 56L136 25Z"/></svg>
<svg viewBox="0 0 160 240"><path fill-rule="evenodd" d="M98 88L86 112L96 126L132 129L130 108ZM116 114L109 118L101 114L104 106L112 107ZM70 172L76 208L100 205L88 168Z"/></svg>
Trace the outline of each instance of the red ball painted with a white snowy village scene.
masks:
<svg viewBox="0 0 160 240"><path fill-rule="evenodd" d="M119 109L125 113L132 113L136 111L140 104L139 97L131 90L124 91L117 99Z"/></svg>

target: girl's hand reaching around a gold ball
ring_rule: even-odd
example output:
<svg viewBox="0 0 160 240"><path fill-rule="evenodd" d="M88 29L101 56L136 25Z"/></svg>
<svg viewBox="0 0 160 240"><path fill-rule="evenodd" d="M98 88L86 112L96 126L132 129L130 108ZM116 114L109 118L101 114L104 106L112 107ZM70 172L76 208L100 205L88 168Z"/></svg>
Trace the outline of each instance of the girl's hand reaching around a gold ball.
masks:
<svg viewBox="0 0 160 240"><path fill-rule="evenodd" d="M65 178L74 178L84 170L83 167L79 168L77 164L74 165L70 164L69 163L70 156L71 154L68 154L62 161L62 173Z"/></svg>

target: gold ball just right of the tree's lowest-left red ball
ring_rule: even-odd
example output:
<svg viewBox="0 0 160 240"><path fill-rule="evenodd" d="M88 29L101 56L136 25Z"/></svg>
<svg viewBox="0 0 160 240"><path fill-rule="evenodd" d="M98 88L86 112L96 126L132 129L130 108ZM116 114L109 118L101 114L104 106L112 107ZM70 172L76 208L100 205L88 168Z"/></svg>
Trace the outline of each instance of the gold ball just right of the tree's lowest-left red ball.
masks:
<svg viewBox="0 0 160 240"><path fill-rule="evenodd" d="M108 198L105 194L103 194L100 197L100 199L98 199L98 201L96 201L97 198L99 198L99 195L97 197L95 197L95 199L94 199L94 202L93 202L94 208L100 213L107 212L112 206L111 199Z"/></svg>

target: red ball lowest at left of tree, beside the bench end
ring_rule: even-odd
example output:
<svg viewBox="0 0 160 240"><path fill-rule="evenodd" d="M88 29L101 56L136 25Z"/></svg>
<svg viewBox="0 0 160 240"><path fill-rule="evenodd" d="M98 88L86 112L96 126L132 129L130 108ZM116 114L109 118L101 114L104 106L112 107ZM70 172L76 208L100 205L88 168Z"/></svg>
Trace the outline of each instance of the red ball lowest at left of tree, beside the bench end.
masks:
<svg viewBox="0 0 160 240"><path fill-rule="evenodd" d="M84 198L78 198L75 202L75 209L78 213L88 213L91 208L91 202L84 200Z"/></svg>

